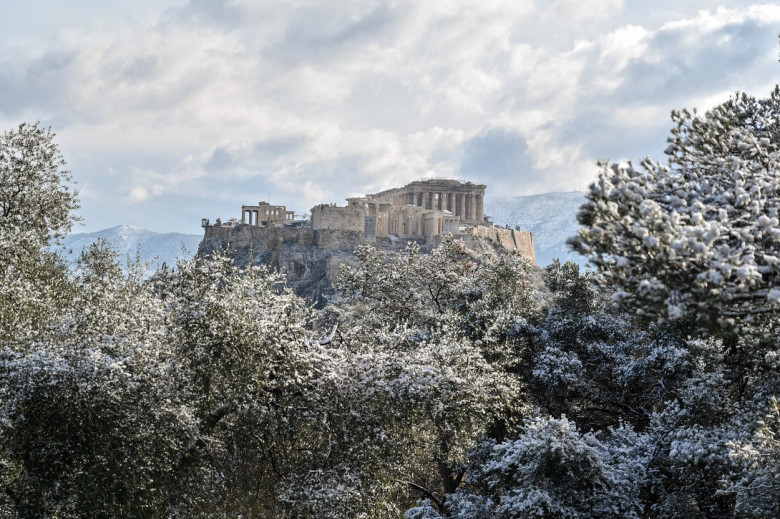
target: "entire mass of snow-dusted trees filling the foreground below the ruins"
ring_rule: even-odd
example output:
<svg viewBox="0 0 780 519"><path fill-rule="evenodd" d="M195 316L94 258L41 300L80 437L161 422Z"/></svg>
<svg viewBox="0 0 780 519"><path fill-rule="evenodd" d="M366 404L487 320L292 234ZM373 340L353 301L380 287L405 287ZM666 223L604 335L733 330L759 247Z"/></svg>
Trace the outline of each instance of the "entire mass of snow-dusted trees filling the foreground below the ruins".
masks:
<svg viewBox="0 0 780 519"><path fill-rule="evenodd" d="M546 269L371 246L322 310L214 255L51 252L54 135L0 138L6 517L780 516L780 89L603 164Z"/></svg>

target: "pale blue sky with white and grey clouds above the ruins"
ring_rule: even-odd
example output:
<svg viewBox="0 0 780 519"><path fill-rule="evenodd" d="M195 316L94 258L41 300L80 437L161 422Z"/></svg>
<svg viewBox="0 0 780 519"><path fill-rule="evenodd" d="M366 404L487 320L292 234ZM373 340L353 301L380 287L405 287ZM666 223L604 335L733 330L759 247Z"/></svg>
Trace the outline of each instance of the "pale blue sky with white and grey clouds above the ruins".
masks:
<svg viewBox="0 0 780 519"><path fill-rule="evenodd" d="M780 78L775 2L0 7L0 130L57 134L75 232L200 233L242 204L305 213L430 177L487 197L584 190L598 160L662 158L673 109Z"/></svg>

